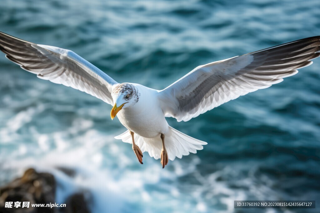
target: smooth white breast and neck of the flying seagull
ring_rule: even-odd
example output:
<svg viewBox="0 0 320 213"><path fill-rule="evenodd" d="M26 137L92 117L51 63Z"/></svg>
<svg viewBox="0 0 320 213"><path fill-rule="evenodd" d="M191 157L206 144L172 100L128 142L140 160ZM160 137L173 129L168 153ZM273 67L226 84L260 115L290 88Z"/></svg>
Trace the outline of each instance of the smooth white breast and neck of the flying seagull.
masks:
<svg viewBox="0 0 320 213"><path fill-rule="evenodd" d="M156 98L157 91L134 85L140 92L140 98L136 104L119 111L117 117L121 124L145 138L160 137L160 133L167 133L169 125Z"/></svg>

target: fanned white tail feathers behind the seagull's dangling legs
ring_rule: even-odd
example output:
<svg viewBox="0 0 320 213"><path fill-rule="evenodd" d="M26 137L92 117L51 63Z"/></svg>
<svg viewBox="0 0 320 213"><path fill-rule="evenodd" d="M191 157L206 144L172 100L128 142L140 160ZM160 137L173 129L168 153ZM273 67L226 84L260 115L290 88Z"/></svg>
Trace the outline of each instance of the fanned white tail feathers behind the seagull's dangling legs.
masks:
<svg viewBox="0 0 320 213"><path fill-rule="evenodd" d="M115 139L122 140L125 143L131 143L131 134L129 130L115 137ZM134 142L138 145L142 152L148 152L150 157L155 159L160 158L162 149L162 142L160 134L155 138L144 138L138 134L134 134ZM178 130L169 127L168 133L164 138L165 148L168 152L170 160L174 160L175 157L182 158L182 156L189 155L191 153L197 153L197 150L203 149L202 145L206 145L207 142L197 140Z"/></svg>

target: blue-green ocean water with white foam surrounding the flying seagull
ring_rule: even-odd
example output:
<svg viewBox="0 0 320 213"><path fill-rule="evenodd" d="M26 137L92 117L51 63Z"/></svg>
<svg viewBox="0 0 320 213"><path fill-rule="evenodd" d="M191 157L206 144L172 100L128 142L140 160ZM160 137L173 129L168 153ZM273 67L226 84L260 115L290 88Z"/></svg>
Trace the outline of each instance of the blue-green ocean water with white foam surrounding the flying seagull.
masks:
<svg viewBox="0 0 320 213"><path fill-rule="evenodd" d="M198 65L320 35L319 11L318 0L3 0L0 31L71 49L118 82L163 89ZM169 118L208 145L162 169L113 138L125 128L110 105L0 56L0 185L36 167L56 175L57 202L89 191L93 212L319 212L233 201L319 206L320 59L188 122Z"/></svg>

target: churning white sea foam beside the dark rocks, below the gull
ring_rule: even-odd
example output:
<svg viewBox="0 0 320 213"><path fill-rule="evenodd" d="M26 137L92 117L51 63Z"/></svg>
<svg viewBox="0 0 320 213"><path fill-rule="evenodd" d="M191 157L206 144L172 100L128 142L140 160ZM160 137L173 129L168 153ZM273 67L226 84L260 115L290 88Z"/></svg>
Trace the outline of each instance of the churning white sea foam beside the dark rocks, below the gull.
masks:
<svg viewBox="0 0 320 213"><path fill-rule="evenodd" d="M231 189L228 181L219 180L226 174L237 175L240 164L236 165L237 170L227 166L206 175L198 172L201 161L196 155L170 161L165 169L146 155L144 164L140 165L131 147L118 143L113 135L95 130L92 121L83 118L76 118L65 131L40 134L31 128L31 133L37 139L36 145L32 150L25 144L19 145L16 156L23 157L6 162L4 169L15 168L22 173L34 167L52 173L58 183L56 202L59 203L83 191L91 194L90 208L97 213L106 208L112 212L130 209L160 212L167 208L172 212L208 212L213 206L222 206L217 212L231 213L234 200L247 198L244 190ZM73 170L75 174L68 176L60 168ZM186 177L188 179L181 182L181 178ZM264 181L268 183L268 178ZM268 185L254 186L252 177L237 184L251 188L261 199L266 198L263 195L269 190ZM137 208L139 203L146 205Z"/></svg>

